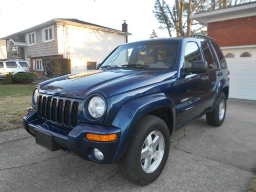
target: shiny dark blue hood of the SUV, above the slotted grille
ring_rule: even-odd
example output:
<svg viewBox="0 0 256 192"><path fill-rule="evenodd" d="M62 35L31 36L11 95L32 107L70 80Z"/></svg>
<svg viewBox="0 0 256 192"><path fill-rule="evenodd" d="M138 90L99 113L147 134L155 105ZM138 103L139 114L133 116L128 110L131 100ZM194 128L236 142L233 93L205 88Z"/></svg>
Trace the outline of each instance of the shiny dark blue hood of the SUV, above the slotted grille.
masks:
<svg viewBox="0 0 256 192"><path fill-rule="evenodd" d="M175 78L166 70L93 70L50 79L38 84L39 92L61 97L85 99L92 93L110 97L150 84Z"/></svg>

